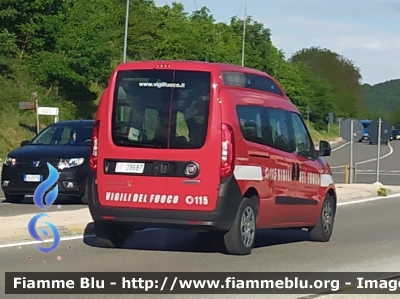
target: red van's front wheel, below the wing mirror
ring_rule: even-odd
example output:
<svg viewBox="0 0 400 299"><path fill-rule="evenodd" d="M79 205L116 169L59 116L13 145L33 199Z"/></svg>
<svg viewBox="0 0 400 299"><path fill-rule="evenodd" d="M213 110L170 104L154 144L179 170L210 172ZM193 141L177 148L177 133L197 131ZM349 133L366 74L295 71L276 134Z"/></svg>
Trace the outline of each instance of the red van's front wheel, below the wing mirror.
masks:
<svg viewBox="0 0 400 299"><path fill-rule="evenodd" d="M309 229L310 238L312 241L329 242L333 232L335 214L336 214L335 200L331 195L327 194L325 196L325 200L322 205L316 225ZM327 216L329 218L327 218ZM329 225L329 227L324 225L326 221L328 221L327 225Z"/></svg>

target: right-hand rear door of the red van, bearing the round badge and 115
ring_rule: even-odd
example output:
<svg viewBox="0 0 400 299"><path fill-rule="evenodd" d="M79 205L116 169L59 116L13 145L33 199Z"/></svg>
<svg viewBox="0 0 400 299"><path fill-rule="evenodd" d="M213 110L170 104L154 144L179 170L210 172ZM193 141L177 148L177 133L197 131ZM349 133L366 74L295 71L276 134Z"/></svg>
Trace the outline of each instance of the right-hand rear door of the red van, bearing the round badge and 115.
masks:
<svg viewBox="0 0 400 299"><path fill-rule="evenodd" d="M221 110L212 73L176 71L171 97L168 157L175 169L169 192L179 194L181 210L212 211L217 204L221 165Z"/></svg>

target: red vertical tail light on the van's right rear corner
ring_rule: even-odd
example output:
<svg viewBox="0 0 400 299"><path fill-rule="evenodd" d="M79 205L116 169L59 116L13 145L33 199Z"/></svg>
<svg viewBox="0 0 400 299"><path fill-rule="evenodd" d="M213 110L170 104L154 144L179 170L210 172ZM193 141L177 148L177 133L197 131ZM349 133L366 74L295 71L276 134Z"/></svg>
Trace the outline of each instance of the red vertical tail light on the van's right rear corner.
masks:
<svg viewBox="0 0 400 299"><path fill-rule="evenodd" d="M235 144L232 128L222 124L221 178L232 175L235 168Z"/></svg>

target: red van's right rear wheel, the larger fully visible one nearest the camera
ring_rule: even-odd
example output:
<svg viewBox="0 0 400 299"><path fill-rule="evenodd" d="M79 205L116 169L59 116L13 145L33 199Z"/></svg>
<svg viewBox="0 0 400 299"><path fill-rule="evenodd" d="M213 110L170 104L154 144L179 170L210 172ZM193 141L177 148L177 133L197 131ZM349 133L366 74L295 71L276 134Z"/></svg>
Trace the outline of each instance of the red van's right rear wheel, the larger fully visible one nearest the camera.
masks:
<svg viewBox="0 0 400 299"><path fill-rule="evenodd" d="M250 217L250 243L244 244L242 237L242 217ZM235 220L228 232L223 236L224 245L228 254L249 255L253 249L256 239L256 221L258 215L258 199L256 196L244 197Z"/></svg>

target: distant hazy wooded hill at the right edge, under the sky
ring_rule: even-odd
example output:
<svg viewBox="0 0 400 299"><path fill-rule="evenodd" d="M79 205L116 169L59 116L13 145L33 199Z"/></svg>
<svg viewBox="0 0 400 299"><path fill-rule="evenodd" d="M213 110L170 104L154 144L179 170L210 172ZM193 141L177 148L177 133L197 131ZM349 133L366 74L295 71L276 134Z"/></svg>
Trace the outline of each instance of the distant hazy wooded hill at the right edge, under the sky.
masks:
<svg viewBox="0 0 400 299"><path fill-rule="evenodd" d="M369 118L383 117L400 127L400 79L363 84L362 106Z"/></svg>

